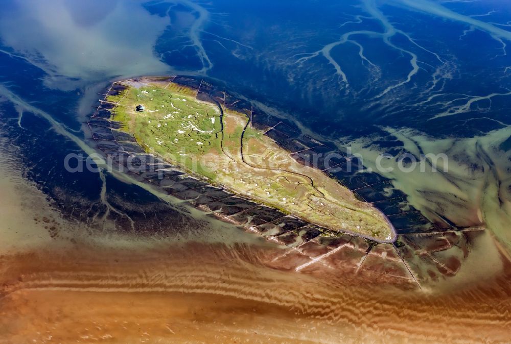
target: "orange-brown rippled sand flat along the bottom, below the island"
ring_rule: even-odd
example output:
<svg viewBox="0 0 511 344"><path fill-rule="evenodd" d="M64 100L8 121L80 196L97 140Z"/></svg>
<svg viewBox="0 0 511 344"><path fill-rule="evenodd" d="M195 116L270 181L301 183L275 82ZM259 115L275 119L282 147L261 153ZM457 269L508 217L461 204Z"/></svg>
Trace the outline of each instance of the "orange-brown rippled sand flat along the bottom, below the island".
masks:
<svg viewBox="0 0 511 344"><path fill-rule="evenodd" d="M348 342L388 342L404 337L413 341L451 342L508 339L511 330L509 266L501 276L482 286L432 293L410 289L406 284L375 285L359 275L325 273L323 278L318 278L270 268L272 257L281 254L282 250L247 245L227 248L187 244L153 252L79 250L2 257L4 284L0 310L8 314L2 324L20 321L16 314L31 307L36 308L36 314L45 313L42 306L48 301L30 301L44 296L44 300L54 300L45 306L51 308L69 294L73 295L71 301L59 308L64 314L71 312L69 308L75 315L85 313L101 302L99 309L112 307L112 313L102 318L108 323L104 326L110 329L109 333L117 333L119 324L114 319L129 320L136 315L139 321L152 324L153 332L146 331L151 340L169 333L156 330L165 323L165 316L151 318L149 310L154 309L151 302L169 306L166 309L170 312L174 307L171 305L187 298L193 302L183 307L195 305L203 312L198 328L204 329L204 335L206 329L225 328L226 337L216 342L235 338L235 332L243 333L236 334L237 338L252 338L255 342L263 338L275 340L275 336L282 335L284 338L280 339L286 342L339 342L341 337ZM120 299L129 302L121 307L117 304ZM144 306L146 300L149 301ZM136 313L130 310L130 302L140 308ZM260 314L263 310L265 316ZM239 323L228 325L230 318L229 321L222 318L225 314L238 318ZM218 323L213 325L210 316L218 318ZM55 320L56 324L65 318ZM74 318L79 332L85 325L77 320L79 317ZM30 315L24 319L30 321ZM183 323L181 328L188 328L192 323ZM288 326L294 326L295 332L287 332ZM264 336L248 333L255 328ZM51 332L53 338L62 336L58 329ZM181 334L184 336L185 332ZM192 332L186 333L193 337ZM9 328L4 333L8 338L15 338L22 330ZM117 333L108 339L122 342L128 334ZM90 335L99 338L97 334Z"/></svg>

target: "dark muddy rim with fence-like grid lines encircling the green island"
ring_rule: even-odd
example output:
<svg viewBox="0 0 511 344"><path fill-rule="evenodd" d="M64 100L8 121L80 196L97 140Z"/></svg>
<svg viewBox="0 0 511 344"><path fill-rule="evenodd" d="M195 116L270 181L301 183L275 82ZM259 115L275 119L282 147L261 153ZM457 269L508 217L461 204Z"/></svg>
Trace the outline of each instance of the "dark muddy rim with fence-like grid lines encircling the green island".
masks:
<svg viewBox="0 0 511 344"><path fill-rule="evenodd" d="M179 79L179 80L181 80L181 83L179 83L179 81L176 80L177 78L181 78L181 79ZM187 82L183 82L182 80L185 80ZM143 77L143 78L139 78L139 79L123 80L123 81L119 81L117 83L115 83L115 82L112 83L112 85L106 92L105 99L108 95L122 94L121 92L124 91L124 88L126 87L124 85L126 84L126 82L128 82L128 83L131 82L136 87L137 84L143 83L144 81L158 82L158 83L162 83L162 84L168 82L169 84L177 83L178 85L183 85L184 87L187 87L190 90L192 90L192 92L196 93L196 99L198 99L200 101L205 101L210 104L214 104L216 106L219 106L219 104L224 104L226 109L231 109L231 110L236 109L236 111L238 111L240 113L247 114L247 116L249 118L249 124L252 125L252 118L253 118L253 111L254 111L252 106L244 104L243 101L240 99L234 99L234 97L228 95L225 92L221 92L221 93L223 93L223 99L220 99L221 94L218 91L216 91L214 86L207 84L206 82L203 82L203 80L200 81L197 89L194 89L194 86L193 86L194 80L193 79L188 79L188 78L184 78L184 77L169 77L169 78ZM121 83L124 83L124 85ZM226 103L227 100L228 100L228 103L230 103L230 105L228 103ZM236 104L236 105L234 105L234 104ZM245 108L243 107L244 105L245 105ZM248 108L248 106L249 106L249 108ZM136 148L133 147L133 145L132 145L133 143L138 143L136 138L134 136L126 136L125 133L115 131L117 125L115 124L114 121L111 120L111 117L108 118L109 113L115 112L115 107L116 107L115 104L109 103L105 100L100 101L100 106L98 106L96 112L91 117L92 120L89 121L89 123L88 123L89 129L92 132L92 136L96 140L96 143L98 144L100 150L105 155L108 155L109 153L111 154L111 151L115 151L114 146L111 145L111 142L113 141L115 143L119 143L119 146L117 148L117 150L119 152L121 152L123 154L130 154L131 157L136 157L137 159L140 159L140 161L141 161L140 164L144 164L144 160L146 160L145 163L147 164L148 160L153 159L153 157L144 156L140 152L140 150L137 150ZM256 111L259 111L259 110L256 110ZM222 113L222 112L223 112L223 109L220 106L220 113ZM256 112L256 113L259 113L259 112ZM257 118L258 118L258 116L259 115L256 114ZM113 133L113 135L109 135L107 131L102 133L102 132L100 132L100 130L95 130L96 129L95 126L97 126L98 124L93 121L94 120L93 118L97 118L97 117L105 119L108 122L108 125L110 127L110 129L109 129L110 133ZM268 118L268 123L271 124L272 120L274 120L274 119ZM260 122L253 122L253 125L261 126ZM281 123L282 123L282 121L278 122L276 125L273 125L271 129L266 130L266 132L275 130L275 127L277 127ZM286 128L287 128L286 130L288 132L290 130L297 130L297 128L292 129L289 126L286 126ZM267 136L269 136L269 135L267 135ZM301 135L301 136L303 137L302 142L300 142L298 139L292 139L292 144L295 146L294 150L290 148L289 144L287 146L285 146L282 143L275 141L275 138L270 137L270 136L269 137L274 142L276 142L279 146L281 146L283 149L288 151L289 154L300 163L302 162L300 160L303 160L303 158L300 155L297 155L295 152L297 150L298 150L298 153L301 153L303 151L311 151L311 149L304 150L304 148L307 148L306 143L305 143L307 141L314 142L314 144L309 144L309 146L317 146L317 147L321 148L322 151L329 150L328 146L324 145L324 143L320 143L308 136L303 136L303 135ZM109 142L105 143L106 139ZM318 144L320 144L320 145L318 146ZM322 146L321 146L321 144L322 144ZM140 144L139 144L139 146L140 146L141 150L147 150L147 147L145 148L144 146L141 146ZM316 151L317 150L318 150L318 148L316 148ZM335 152L335 151L333 151L333 152ZM346 162L348 162L350 160L350 158L344 158L344 156L341 155L341 153L338 153L338 152L335 152L335 153L338 154L340 157L343 157L342 159L337 158L338 163L345 164ZM321 154L319 156L321 157ZM278 230L277 227L289 227L291 223L293 223L293 222L296 223L296 221L298 220L297 217L289 215L287 213L284 213L284 212L277 210L271 206L266 207L264 204L258 203L257 201L255 201L255 203L254 203L253 200L247 199L245 196L241 196L241 195L237 194L236 192L234 192L233 190L229 190L228 188L226 188L220 184L215 185L215 187L217 187L219 189L216 189L216 191L213 191L213 192L218 193L219 190L222 189L223 191L225 191L222 194L224 199L229 199L230 197L235 196L237 198L236 199L237 202L235 201L235 199L233 199L232 202L229 201L229 204L227 204L227 205L226 204L224 204L223 206L218 205L216 207L216 209L211 209L211 207L208 204L211 203L212 200L215 201L216 203L222 202L223 200L222 200L222 198L212 198L211 193L208 193L207 191L203 192L204 188L207 185L210 185L209 183L207 183L207 180L204 180L203 178L201 178L201 176L197 176L195 174L189 174L190 171L182 170L177 166L173 166L168 163L165 164L164 162L162 162L162 160L160 160L158 158L154 158L154 160L156 161L155 164L159 163L160 167L162 167L162 168L163 167L167 167L167 169L172 168L172 170L175 171L173 173L174 176L172 176L172 177L179 178L179 179L177 179L177 181L180 182L180 185L184 184L184 190L190 190L190 191L187 191L188 194L190 194L189 195L190 199L187 199L187 196L183 195L183 193L186 193L186 192L183 190L180 190L179 188L177 189L179 192L173 192L174 196L177 196L178 198L183 199L185 201L189 201L192 203L193 206L203 209L205 211L213 211L214 210L214 214L217 215L221 219L228 220L229 222L234 222L237 225L242 225L245 228L254 230L256 232L260 232L258 230L258 227L261 227L261 225L265 225L266 227L268 227L267 226L268 222L272 222L275 225L273 227L273 229L269 230L268 228L265 228L265 230L264 230L264 232L268 232L268 233ZM320 167L317 166L318 164L323 164L323 161L322 160L319 162L316 161L316 165L314 165L314 166L311 165L311 167L320 169ZM335 162L334 162L334 164L335 164ZM179 173L176 173L179 170L185 175L182 175L182 174L179 175ZM327 172L327 169L324 169L323 173L326 174L330 178L335 178ZM154 180L153 178L151 178L153 176L150 174L144 175L143 173L141 173L140 176L153 185L160 186L158 184L161 184L160 181L157 181L157 180ZM148 177L150 177L150 178L148 178ZM167 177L170 177L170 176L165 176L165 178L167 178ZM187 178L187 181L183 182L182 178ZM176 180L174 180L174 182L175 181ZM206 183L201 184L200 181L205 181ZM338 182L341 185L343 185L340 181L338 181ZM197 193L196 190L199 190L199 193ZM358 199L361 199L364 202L367 202L366 200L364 200L362 198L362 196L360 196L360 194L358 194L356 192L354 192L354 193L356 194ZM193 198L192 198L192 194L193 194ZM191 199L193 199L193 201ZM201 200L204 200L205 203L201 202ZM222 214L222 209L225 209L228 207L233 207L234 205L237 205L239 207L241 206L241 208L239 208L241 211L247 212L249 208L252 208L252 210L250 210L250 214L247 213L246 216L240 217L236 214L237 216L235 216L235 217L240 217L237 220L234 220L233 218L227 218L227 214L228 214L228 216L234 216L235 213L231 213L230 211L228 211L227 214ZM259 207L259 210L258 210L258 207ZM243 209L245 209L245 210L243 210ZM394 242L397 238L397 233L396 233L396 230L394 229L394 226L392 225L390 219L387 217L387 215L385 215L385 213L382 210L380 210L378 208L376 208L376 209L382 214L383 218L385 219L385 222L387 223L388 227L390 228L390 232L391 232L391 234L389 235L390 238L382 240L380 238L375 238L375 237L372 237L369 235L364 235L361 233L356 233L354 231L345 230L345 229L340 229L337 231L337 233L340 232L341 235L342 235L342 233L351 234L351 235L363 237L367 240L371 240L371 241L374 241L377 243L392 243L392 242ZM261 216L263 216L263 218L265 218L265 220L263 220L262 218L261 218L261 220L259 220L259 218ZM280 219L282 219L282 221L280 221ZM289 219L291 221L291 223L288 224L286 222L286 219ZM310 228L307 229L306 227L310 227ZM312 223L308 223L307 221L301 223L301 227L294 227L294 228L290 228L289 230L295 231L295 233L298 234L298 232L300 232L300 228L303 228L306 230L305 233L300 235L300 237L301 237L300 239L302 240L302 242L308 241L308 240L313 239L317 236L326 236L326 237L333 237L333 238L335 238L337 236L335 231L332 232L331 230L322 228L321 226L318 226L318 225L315 225ZM325 233L325 235L323 235L323 233ZM265 234L265 233L260 232L260 234ZM284 234L284 233L281 233L281 234Z"/></svg>

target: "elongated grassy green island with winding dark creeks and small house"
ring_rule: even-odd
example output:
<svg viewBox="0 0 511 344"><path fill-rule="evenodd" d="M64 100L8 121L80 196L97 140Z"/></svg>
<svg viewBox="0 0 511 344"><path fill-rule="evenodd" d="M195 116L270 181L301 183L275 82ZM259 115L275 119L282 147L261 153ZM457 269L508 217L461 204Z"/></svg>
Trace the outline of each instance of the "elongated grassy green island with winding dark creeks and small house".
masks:
<svg viewBox="0 0 511 344"><path fill-rule="evenodd" d="M153 77L115 85L117 90L107 92L100 108L108 108L118 130L132 134L145 153L229 194L303 221L301 225L314 225L322 234L350 232L378 241L393 238L392 225L380 210L357 198L328 168L299 154L330 148L310 137L305 142L288 140L288 146L275 139L272 132L294 130L284 121L261 124L264 121L258 117L264 113L204 81L191 87L172 78ZM277 126L278 131L273 130ZM321 160L322 166L346 162L336 155L328 160ZM207 208L207 202L198 203ZM263 231L264 225L252 219L244 217L242 224Z"/></svg>

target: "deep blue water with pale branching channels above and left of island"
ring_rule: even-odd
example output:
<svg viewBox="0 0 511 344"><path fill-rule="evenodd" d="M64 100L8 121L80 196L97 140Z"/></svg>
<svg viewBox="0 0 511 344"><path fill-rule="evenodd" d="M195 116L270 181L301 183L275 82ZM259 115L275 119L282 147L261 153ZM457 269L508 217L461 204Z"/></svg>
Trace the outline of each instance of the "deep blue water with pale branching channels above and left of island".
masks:
<svg viewBox="0 0 511 344"><path fill-rule="evenodd" d="M0 83L4 95L49 113L80 138L88 135L82 123L96 90L115 78L155 73L204 77L320 137L363 138L393 154L404 143L385 128L430 141L495 130L511 137L511 95L505 95L511 4L413 4L6 0ZM1 135L19 147L25 175L67 213L74 207L82 218L104 212L99 175L64 170L64 156L80 153L79 146L27 110L18 126L19 106L7 99ZM509 144L484 149L506 151ZM124 199L121 208L157 204L148 192L111 177L107 187L112 200Z"/></svg>

